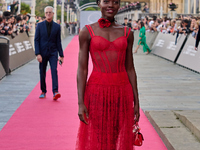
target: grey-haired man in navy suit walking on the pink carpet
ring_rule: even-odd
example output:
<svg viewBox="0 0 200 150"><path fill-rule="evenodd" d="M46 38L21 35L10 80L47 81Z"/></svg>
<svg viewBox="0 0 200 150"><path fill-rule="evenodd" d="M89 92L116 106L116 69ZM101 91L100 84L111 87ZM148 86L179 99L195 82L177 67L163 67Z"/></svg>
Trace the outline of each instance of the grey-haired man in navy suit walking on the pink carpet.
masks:
<svg viewBox="0 0 200 150"><path fill-rule="evenodd" d="M53 7L47 6L45 9L46 20L38 23L35 32L35 55L40 63L40 88L41 95L39 98L46 97L46 68L49 61L51 67L52 75L52 91L53 99L57 100L61 97L58 92L58 74L57 74L57 64L58 64L58 53L60 55L59 61L63 62L63 50L61 46L60 37L60 25L53 22Z"/></svg>

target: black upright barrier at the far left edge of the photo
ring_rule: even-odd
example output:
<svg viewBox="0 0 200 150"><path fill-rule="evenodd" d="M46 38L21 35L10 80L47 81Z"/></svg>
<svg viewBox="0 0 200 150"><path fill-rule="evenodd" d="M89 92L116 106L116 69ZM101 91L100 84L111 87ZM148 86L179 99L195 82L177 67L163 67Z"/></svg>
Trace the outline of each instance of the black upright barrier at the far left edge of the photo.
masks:
<svg viewBox="0 0 200 150"><path fill-rule="evenodd" d="M0 36L0 39L7 40L7 43L0 43L0 61L4 68L6 75L10 73L9 69L9 45L10 39L4 36ZM2 73L1 73L2 74Z"/></svg>

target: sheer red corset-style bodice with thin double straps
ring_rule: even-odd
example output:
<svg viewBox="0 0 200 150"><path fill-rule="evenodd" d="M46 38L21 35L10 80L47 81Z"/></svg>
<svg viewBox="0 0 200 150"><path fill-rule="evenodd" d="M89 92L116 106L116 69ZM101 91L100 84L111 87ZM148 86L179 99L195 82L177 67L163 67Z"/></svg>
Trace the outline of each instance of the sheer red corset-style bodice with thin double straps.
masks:
<svg viewBox="0 0 200 150"><path fill-rule="evenodd" d="M93 62L93 72L88 83L106 85L128 83L125 57L130 30L126 36L125 27L124 36L108 41L104 37L96 36L91 26L86 27L91 35L89 51Z"/></svg>

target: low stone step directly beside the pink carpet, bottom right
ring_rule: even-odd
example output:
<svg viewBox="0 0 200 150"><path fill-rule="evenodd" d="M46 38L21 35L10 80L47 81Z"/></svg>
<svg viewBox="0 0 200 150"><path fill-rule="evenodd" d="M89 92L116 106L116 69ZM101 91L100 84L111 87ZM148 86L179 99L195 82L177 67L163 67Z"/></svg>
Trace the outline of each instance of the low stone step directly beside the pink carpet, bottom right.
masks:
<svg viewBox="0 0 200 150"><path fill-rule="evenodd" d="M145 112L168 150L199 150L200 142L173 111Z"/></svg>

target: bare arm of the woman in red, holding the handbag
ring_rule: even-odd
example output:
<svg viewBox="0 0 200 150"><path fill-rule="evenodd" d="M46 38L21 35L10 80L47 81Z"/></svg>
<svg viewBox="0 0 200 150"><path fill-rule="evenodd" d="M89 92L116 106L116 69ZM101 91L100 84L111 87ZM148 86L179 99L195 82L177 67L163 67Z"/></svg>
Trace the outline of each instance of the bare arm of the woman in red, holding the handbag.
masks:
<svg viewBox="0 0 200 150"><path fill-rule="evenodd" d="M134 94L134 114L136 116L136 122L139 121L140 118L140 112L139 112L139 98L138 98L138 89L137 89L137 76L133 64L133 52L132 52L132 47L133 47L133 32L130 32L130 35L128 37L128 46L126 50L126 71L129 77L129 81L132 85L133 88L133 94Z"/></svg>

